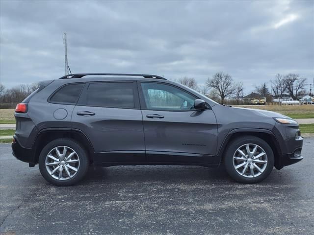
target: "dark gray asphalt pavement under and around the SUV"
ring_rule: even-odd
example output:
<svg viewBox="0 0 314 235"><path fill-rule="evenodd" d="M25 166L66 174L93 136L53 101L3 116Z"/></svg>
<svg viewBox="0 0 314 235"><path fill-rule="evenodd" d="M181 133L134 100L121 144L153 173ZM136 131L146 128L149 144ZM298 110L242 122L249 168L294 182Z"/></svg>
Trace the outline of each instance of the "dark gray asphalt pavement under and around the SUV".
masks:
<svg viewBox="0 0 314 235"><path fill-rule="evenodd" d="M223 167L91 167L55 187L0 144L0 232L21 235L313 235L314 139L260 184Z"/></svg>

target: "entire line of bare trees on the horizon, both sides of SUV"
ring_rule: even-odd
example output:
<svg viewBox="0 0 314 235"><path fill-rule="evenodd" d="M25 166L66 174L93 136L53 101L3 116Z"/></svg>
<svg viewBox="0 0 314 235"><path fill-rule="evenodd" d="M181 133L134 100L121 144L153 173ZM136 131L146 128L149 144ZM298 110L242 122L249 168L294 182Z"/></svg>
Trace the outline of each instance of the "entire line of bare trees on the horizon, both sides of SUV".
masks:
<svg viewBox="0 0 314 235"><path fill-rule="evenodd" d="M271 90L268 89L266 83L262 83L261 85L257 85L252 92L262 97L267 97L267 99L271 98L272 94L274 98L290 96L293 100L297 100L298 96L308 94L305 89L306 80L306 78L300 77L299 74L289 73L283 75L278 73L274 79L270 80ZM230 74L223 71L216 72L211 78L206 80L206 84L204 85L198 84L195 78L190 77L183 77L178 82L220 103L225 103L226 98L228 98L228 103L230 104L240 104L243 102L243 82L235 82ZM38 85L34 83L21 84L6 89L0 83L0 108L15 108L17 103L23 101L37 88Z"/></svg>

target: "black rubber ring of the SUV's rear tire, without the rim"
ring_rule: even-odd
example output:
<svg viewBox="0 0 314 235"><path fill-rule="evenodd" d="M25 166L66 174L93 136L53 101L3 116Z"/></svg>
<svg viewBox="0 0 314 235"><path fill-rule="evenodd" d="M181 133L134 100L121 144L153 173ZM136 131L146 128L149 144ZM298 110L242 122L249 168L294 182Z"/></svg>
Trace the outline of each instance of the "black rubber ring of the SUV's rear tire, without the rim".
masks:
<svg viewBox="0 0 314 235"><path fill-rule="evenodd" d="M57 146L67 146L75 150L78 154L79 158L79 168L76 175L68 180L57 180L54 179L49 172L46 169L46 156L48 153ZM80 181L84 175L86 174L88 170L89 161L87 158L86 151L79 146L79 144L76 141L73 141L71 139L57 139L50 143L48 143L41 151L38 159L39 164L39 170L42 176L51 184L56 186L70 186L76 184L78 181Z"/></svg>

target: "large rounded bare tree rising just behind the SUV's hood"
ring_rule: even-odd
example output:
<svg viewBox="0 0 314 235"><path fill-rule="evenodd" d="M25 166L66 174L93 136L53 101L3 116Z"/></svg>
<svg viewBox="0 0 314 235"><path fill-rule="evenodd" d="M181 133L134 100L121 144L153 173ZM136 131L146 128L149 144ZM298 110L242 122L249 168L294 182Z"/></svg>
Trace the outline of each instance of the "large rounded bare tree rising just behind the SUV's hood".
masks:
<svg viewBox="0 0 314 235"><path fill-rule="evenodd" d="M223 72L216 72L212 78L208 78L207 85L217 91L220 96L221 103L224 103L226 97L233 93L233 79L231 75Z"/></svg>

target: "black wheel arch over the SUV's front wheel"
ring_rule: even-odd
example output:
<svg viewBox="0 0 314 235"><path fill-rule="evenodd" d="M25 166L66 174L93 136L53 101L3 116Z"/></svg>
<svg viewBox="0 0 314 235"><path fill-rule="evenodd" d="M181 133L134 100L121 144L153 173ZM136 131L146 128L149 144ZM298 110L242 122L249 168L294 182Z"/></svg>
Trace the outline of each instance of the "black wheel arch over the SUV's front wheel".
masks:
<svg viewBox="0 0 314 235"><path fill-rule="evenodd" d="M280 155L281 155L281 148L279 145L279 141L277 140L276 136L274 135L274 133L270 130L267 129L247 129L247 128L239 128L239 129L235 129L231 132L229 132L227 134L227 136L225 137L219 152L218 152L218 156L221 160L221 162L223 161L223 156L224 153L226 151L226 146L229 142L235 140L235 138L240 137L240 136L255 136L258 138L261 138L263 141L266 141L269 146L271 147L273 153L274 153L274 157L275 157L275 167L276 169L281 169L282 166L280 164Z"/></svg>

